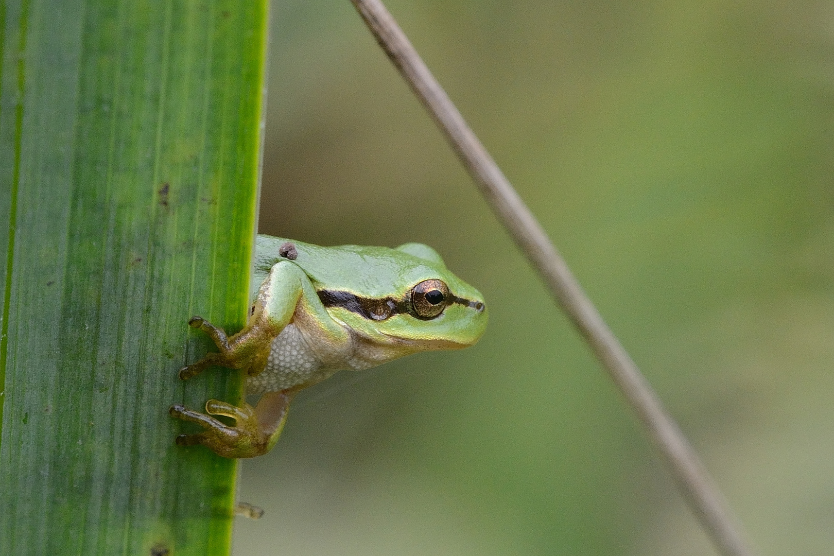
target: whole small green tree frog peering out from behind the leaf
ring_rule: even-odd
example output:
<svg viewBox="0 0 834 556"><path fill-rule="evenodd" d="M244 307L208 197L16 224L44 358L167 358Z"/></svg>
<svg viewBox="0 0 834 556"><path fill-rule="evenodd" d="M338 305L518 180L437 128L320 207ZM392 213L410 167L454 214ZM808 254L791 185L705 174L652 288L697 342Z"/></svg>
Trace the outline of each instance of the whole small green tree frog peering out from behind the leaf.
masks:
<svg viewBox="0 0 834 556"><path fill-rule="evenodd" d="M179 378L212 365L243 369L246 393L260 394L259 402L253 408L209 399L206 413L173 405L172 417L204 428L180 434L180 445L202 444L226 458L267 453L299 390L339 370L466 348L478 341L487 321L483 296L422 243L319 247L259 235L251 291L257 293L249 319L233 336L201 317L188 321L220 351L181 368Z"/></svg>

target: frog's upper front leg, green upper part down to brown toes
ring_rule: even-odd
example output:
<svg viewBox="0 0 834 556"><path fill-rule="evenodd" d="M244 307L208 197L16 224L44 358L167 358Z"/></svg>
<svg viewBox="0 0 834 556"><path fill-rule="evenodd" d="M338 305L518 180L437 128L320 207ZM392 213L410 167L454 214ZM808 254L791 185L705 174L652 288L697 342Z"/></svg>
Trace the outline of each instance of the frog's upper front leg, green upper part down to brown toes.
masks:
<svg viewBox="0 0 834 556"><path fill-rule="evenodd" d="M207 333L220 351L208 353L197 363L179 369L179 378L195 377L212 365L244 368L250 375L260 373L269 358L273 339L293 318L295 306L307 284L309 278L293 263L281 261L274 264L255 298L249 322L233 336L227 337L223 328L202 317L192 317L188 326Z"/></svg>

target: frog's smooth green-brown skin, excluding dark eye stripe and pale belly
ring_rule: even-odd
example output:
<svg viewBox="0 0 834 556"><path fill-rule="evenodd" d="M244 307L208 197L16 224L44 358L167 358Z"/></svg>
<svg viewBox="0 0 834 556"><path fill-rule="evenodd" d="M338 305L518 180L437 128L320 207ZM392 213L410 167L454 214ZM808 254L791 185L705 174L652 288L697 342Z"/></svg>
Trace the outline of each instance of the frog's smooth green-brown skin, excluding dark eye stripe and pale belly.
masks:
<svg viewBox="0 0 834 556"><path fill-rule="evenodd" d="M279 254L287 243L292 244L296 256ZM412 288L429 279L440 279L455 296L483 306L476 310L451 303L435 318L398 313L373 320L347 308L325 307L317 294L330 290L361 298L410 299ZM330 366L349 368L347 361L354 354L356 338L379 364L420 351L466 348L478 341L488 320L480 292L451 273L440 255L422 243L406 243L395 249L319 247L260 235L255 248L253 291L256 288L249 322L231 337L201 317L191 318L188 324L207 333L220 352L208 353L197 363L183 367L180 378L192 378L211 365L243 369L255 376L264 370L274 338L293 322L304 328L306 338L314 338L316 345L310 347L322 358L329 358ZM248 403L237 407L209 399L206 414L173 405L172 417L205 428L202 433L181 434L177 443L203 444L226 458L267 453L278 441L294 395L323 378L264 393L254 408ZM234 418L236 424L229 426L212 415Z"/></svg>

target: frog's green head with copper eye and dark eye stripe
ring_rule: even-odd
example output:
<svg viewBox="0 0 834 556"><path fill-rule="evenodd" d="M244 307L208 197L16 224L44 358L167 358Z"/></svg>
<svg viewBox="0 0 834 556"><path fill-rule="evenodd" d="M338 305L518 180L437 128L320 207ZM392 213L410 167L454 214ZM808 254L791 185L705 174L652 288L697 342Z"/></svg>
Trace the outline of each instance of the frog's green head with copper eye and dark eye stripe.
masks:
<svg viewBox="0 0 834 556"><path fill-rule="evenodd" d="M451 273L434 249L422 243L373 248L374 253L356 249L363 249L373 268L356 268L353 288L319 290L319 298L365 342L387 347L396 357L466 348L484 333L484 296ZM374 278L364 279L369 276Z"/></svg>

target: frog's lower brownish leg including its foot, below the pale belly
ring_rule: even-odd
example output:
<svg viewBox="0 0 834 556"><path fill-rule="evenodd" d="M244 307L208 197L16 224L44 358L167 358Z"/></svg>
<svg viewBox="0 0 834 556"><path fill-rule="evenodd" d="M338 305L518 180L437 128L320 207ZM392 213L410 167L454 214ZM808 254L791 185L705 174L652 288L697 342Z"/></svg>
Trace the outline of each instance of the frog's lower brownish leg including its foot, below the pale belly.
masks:
<svg viewBox="0 0 834 556"><path fill-rule="evenodd" d="M171 417L198 423L205 430L197 434L180 434L180 446L203 444L224 458L254 458L269 452L278 442L284 422L287 420L289 403L299 387L280 392L268 392L261 396L254 408L249 403L239 408L217 399L206 402L206 415L197 411L173 405L168 410ZM229 426L211 415L234 418L235 426Z"/></svg>

